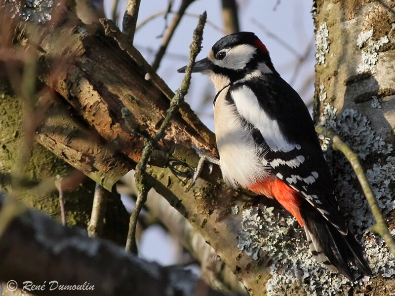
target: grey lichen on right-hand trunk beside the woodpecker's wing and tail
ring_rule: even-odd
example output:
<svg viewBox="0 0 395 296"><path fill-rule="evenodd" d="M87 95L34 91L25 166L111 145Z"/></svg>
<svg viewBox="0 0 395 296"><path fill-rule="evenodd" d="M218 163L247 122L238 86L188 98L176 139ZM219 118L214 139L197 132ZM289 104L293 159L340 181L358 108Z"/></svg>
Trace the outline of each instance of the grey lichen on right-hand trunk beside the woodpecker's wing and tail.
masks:
<svg viewBox="0 0 395 296"><path fill-rule="evenodd" d="M366 177L384 214L395 210L394 196L395 157L391 155L393 145L388 144L372 129L369 119L354 109L346 109L339 116L333 116L336 109L324 109L321 124L332 127L340 138L358 154L366 168ZM381 237L372 234L369 228L374 219L356 181L356 175L346 157L322 142L325 157L332 169L336 193L346 220L356 238L361 242L369 259L373 273L380 272L383 277L395 274L395 260ZM395 230L392 230L394 234Z"/></svg>

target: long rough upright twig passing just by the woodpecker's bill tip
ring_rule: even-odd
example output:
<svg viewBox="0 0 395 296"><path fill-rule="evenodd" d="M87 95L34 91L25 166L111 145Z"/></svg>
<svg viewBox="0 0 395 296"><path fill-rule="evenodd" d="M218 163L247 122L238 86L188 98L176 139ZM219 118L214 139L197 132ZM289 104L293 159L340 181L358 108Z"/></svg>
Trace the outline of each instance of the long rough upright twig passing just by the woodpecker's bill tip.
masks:
<svg viewBox="0 0 395 296"><path fill-rule="evenodd" d="M191 83L192 68L195 65L195 59L197 57L197 54L200 52L201 49L201 41L203 39L202 37L203 28L206 22L206 18L207 18L207 14L206 12L203 12L199 18L199 22L194 31L193 41L191 43L189 63L185 71L184 80L182 81L181 86L177 89L174 97L171 99L170 107L167 110L166 117L164 118L162 124L160 125L158 132L156 133L156 135L152 140L145 141L145 146L143 148L141 159L136 165L135 178L136 178L136 186L138 189L138 195L137 195L136 204L130 216L129 231L127 234L126 247L125 247L125 250L131 251L133 253L137 253L137 245L136 245L137 219L143 207L143 204L147 200L147 193L149 190L149 188L144 183L143 174L147 167L148 159L154 147L156 146L158 141L164 136L164 132L166 130L168 123L170 122L172 116L178 111L180 104L183 102L184 97L188 92L189 85ZM124 109L122 109L122 117L124 117L126 113L127 112Z"/></svg>

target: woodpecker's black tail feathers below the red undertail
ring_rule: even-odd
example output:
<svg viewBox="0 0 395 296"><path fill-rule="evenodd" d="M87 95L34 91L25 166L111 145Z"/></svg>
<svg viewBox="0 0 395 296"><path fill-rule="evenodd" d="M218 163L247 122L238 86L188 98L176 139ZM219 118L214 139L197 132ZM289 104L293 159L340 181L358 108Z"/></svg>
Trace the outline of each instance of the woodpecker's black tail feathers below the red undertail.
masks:
<svg viewBox="0 0 395 296"><path fill-rule="evenodd" d="M350 281L354 281L355 278L350 270L349 263L354 264L361 272L372 275L372 271L363 256L363 250L350 230L348 230L347 235L340 233L307 201L303 208L304 211L301 215L305 223L306 233L310 232L310 237L313 240L315 239L315 244L319 246L319 250L316 251L323 253L330 264ZM311 247L310 249L312 250ZM313 255L316 254L316 252L312 253ZM318 259L316 256L315 258ZM328 262L324 263L329 265L329 268L332 267Z"/></svg>

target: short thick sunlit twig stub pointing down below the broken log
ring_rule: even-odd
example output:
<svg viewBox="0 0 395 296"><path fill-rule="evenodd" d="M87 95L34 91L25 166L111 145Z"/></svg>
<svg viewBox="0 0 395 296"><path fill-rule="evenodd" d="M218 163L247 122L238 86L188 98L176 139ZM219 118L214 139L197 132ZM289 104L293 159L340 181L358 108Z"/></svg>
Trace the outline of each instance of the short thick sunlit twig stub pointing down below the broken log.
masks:
<svg viewBox="0 0 395 296"><path fill-rule="evenodd" d="M89 236L101 236L104 226L104 216L106 214L107 190L96 183L95 194L93 195L92 214L88 225Z"/></svg>

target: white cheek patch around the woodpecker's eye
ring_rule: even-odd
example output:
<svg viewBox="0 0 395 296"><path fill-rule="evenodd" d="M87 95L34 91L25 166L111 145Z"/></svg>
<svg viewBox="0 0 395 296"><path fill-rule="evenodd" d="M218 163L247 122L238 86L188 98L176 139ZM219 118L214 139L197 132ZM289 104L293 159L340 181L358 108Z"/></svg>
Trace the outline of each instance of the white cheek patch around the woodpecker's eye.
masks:
<svg viewBox="0 0 395 296"><path fill-rule="evenodd" d="M233 70L243 69L256 54L255 47L249 44L240 44L223 51L226 52L226 57L223 60L213 59L212 62L221 68Z"/></svg>

